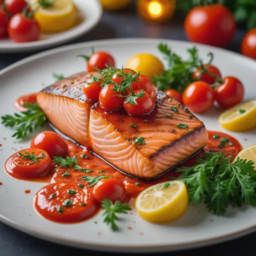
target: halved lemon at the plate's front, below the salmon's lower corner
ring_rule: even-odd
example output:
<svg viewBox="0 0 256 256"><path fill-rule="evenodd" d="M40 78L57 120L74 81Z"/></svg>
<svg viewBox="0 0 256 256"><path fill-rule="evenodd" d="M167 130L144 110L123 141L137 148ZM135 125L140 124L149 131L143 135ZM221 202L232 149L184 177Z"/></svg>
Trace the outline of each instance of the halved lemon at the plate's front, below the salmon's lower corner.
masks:
<svg viewBox="0 0 256 256"><path fill-rule="evenodd" d="M185 213L187 204L187 188L179 180L153 185L141 192L136 199L139 215L151 223L169 223L180 218Z"/></svg>

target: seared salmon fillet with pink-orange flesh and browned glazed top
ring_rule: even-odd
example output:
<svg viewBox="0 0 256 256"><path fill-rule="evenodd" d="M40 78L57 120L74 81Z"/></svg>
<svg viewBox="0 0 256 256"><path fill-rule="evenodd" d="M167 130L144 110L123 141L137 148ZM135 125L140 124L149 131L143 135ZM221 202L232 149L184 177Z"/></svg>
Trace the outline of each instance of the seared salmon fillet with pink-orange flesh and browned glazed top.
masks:
<svg viewBox="0 0 256 256"><path fill-rule="evenodd" d="M176 100L156 89L149 115L106 112L83 93L90 73L57 82L37 96L38 105L60 132L90 146L119 171L152 179L190 158L208 142L204 124Z"/></svg>

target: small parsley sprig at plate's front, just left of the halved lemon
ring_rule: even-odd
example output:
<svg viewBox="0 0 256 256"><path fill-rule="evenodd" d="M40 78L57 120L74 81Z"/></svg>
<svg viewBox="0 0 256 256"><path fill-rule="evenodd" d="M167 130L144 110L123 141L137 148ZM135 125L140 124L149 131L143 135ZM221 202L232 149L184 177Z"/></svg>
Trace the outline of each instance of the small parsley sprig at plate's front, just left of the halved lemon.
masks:
<svg viewBox="0 0 256 256"><path fill-rule="evenodd" d="M118 220L118 217L116 214L127 214L127 211L131 211L130 205L123 204L120 201L116 201L116 203L113 204L109 199L104 199L101 207L105 209L105 212L103 213L103 216L106 216L104 222L107 225L110 224L113 231L118 230L116 225L116 220Z"/></svg>

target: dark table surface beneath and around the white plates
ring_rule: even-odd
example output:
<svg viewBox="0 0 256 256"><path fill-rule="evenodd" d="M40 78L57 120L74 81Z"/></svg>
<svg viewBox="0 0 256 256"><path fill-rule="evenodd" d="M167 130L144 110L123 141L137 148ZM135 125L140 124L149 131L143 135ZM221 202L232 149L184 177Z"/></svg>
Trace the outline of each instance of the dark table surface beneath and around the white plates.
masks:
<svg viewBox="0 0 256 256"><path fill-rule="evenodd" d="M239 28L233 42L228 46L228 50L239 52L242 37L246 31ZM134 11L134 6L130 9L118 13L104 13L102 20L91 32L76 39L71 43L86 42L109 38L131 38L131 37L152 37L168 38L186 41L183 30L183 20L174 17L168 24L150 24L141 21ZM17 60L28 57L36 52L0 54L0 70L15 63ZM209 231L211 232L211 231ZM223 244L198 248L190 251L173 252L172 255L185 255L187 253L204 253L205 255L216 255L228 251L232 255L252 254L255 249L256 233L246 237L236 239ZM51 256L51 255L80 255L82 253L93 253L93 255L106 255L109 253L90 252L69 248L46 242L30 235L24 234L0 223L0 255L1 256ZM159 254L158 254L159 255ZM164 255L164 253L163 253Z"/></svg>

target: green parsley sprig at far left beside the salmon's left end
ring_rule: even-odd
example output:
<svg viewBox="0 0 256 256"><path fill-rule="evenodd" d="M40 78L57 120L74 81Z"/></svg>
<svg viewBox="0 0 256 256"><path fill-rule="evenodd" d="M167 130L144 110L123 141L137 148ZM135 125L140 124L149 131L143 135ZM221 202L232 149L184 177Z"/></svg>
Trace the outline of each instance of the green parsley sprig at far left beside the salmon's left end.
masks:
<svg viewBox="0 0 256 256"><path fill-rule="evenodd" d="M21 113L14 113L13 116L6 114L2 116L2 124L5 127L14 127L16 132L12 137L16 139L24 139L28 133L32 133L38 127L43 127L46 122L44 112L36 103L25 103L24 107L27 109Z"/></svg>

